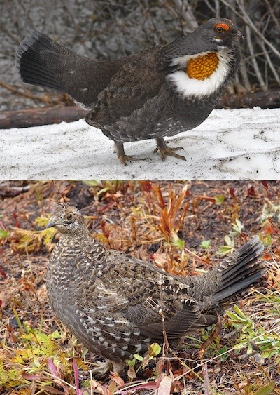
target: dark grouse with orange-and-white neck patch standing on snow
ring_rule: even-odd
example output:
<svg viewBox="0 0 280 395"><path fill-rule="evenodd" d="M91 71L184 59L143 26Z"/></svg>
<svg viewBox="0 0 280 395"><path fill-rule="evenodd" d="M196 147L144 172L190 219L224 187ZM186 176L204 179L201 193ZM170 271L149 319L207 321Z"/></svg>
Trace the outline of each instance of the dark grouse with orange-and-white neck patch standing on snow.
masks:
<svg viewBox="0 0 280 395"><path fill-rule="evenodd" d="M200 125L239 67L242 36L231 20L212 18L186 36L117 60L88 59L31 32L15 54L22 80L68 93L91 111L85 121L115 142L157 141L162 160L184 159L165 136Z"/></svg>

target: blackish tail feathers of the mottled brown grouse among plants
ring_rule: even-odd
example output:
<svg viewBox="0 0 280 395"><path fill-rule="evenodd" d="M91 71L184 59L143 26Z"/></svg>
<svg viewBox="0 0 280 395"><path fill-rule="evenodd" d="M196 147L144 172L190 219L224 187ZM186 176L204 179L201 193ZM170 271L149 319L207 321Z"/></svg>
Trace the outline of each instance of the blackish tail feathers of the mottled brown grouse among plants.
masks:
<svg viewBox="0 0 280 395"><path fill-rule="evenodd" d="M255 236L221 262L215 269L221 275L221 285L214 294L214 302L223 303L262 278L265 268L259 260L263 250L262 242Z"/></svg>

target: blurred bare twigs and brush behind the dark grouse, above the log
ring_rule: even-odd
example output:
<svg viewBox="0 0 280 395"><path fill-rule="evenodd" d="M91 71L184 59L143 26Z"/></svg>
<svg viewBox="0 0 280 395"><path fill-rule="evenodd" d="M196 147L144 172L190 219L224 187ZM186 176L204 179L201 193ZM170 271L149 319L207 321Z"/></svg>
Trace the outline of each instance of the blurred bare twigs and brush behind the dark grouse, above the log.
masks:
<svg viewBox="0 0 280 395"><path fill-rule="evenodd" d="M173 41L215 16L230 18L245 36L241 67L220 107L279 107L279 0L1 0L0 110L73 104L20 81L14 53L32 29L81 55L117 58Z"/></svg>

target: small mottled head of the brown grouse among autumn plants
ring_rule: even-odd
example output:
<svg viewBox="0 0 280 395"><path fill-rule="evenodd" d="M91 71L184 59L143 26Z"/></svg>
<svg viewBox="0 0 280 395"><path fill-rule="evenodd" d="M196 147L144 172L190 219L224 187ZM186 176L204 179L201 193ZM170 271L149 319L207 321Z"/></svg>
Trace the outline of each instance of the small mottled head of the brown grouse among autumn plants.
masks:
<svg viewBox="0 0 280 395"><path fill-rule="evenodd" d="M79 234L83 231L84 223L78 208L68 203L58 203L50 213L47 228L55 227L62 234Z"/></svg>

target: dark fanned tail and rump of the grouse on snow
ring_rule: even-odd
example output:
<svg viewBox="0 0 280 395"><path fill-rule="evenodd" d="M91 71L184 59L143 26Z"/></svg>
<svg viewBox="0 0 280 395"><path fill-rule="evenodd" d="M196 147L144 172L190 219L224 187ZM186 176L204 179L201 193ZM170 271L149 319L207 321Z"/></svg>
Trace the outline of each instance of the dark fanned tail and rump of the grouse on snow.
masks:
<svg viewBox="0 0 280 395"><path fill-rule="evenodd" d="M22 81L68 93L86 107L97 102L99 93L128 61L88 59L36 31L25 37L15 53Z"/></svg>

